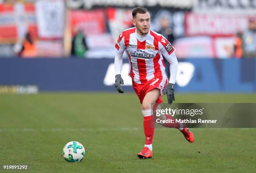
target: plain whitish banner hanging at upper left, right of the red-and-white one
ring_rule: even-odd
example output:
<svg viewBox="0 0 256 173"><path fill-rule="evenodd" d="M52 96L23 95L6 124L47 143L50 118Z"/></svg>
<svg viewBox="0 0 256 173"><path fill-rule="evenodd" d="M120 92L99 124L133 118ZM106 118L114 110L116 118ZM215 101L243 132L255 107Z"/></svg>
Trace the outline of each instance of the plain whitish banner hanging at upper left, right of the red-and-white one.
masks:
<svg viewBox="0 0 256 173"><path fill-rule="evenodd" d="M65 22L64 1L39 0L35 6L39 37L49 39L62 38Z"/></svg>

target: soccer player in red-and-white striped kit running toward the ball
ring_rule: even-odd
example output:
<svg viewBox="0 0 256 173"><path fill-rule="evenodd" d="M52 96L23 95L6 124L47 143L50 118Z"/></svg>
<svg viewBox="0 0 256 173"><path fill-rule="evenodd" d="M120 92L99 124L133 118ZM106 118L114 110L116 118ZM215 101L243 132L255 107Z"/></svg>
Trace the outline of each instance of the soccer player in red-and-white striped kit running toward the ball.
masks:
<svg viewBox="0 0 256 173"><path fill-rule="evenodd" d="M174 99L174 83L176 80L178 61L175 49L162 35L150 30L150 14L146 8L133 8L134 28L124 30L119 35L115 44L115 88L123 93L121 84L121 70L123 65L123 53L129 57L129 75L132 78L133 89L142 104L143 127L146 137L144 148L138 153L139 158L151 158L152 141L155 129L153 108L151 104L160 104L162 94L166 93L168 103ZM170 79L167 82L165 76L164 58L170 63ZM167 84L168 83L168 84ZM165 88L165 89L164 89ZM172 119L171 115L164 115L164 119ZM194 142L194 135L182 123L162 124L169 128L178 128L184 137Z"/></svg>

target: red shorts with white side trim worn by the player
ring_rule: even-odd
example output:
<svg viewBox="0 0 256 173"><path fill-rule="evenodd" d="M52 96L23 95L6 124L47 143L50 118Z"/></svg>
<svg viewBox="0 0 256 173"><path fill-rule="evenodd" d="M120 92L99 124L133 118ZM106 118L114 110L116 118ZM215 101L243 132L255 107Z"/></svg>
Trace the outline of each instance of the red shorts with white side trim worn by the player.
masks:
<svg viewBox="0 0 256 173"><path fill-rule="evenodd" d="M148 80L144 84L138 84L133 81L133 89L135 93L138 95L138 98L140 99L140 102L142 104L143 99L149 91L153 90L154 88L158 88L160 90L159 98L156 100L156 103L162 103L163 100L161 99L163 95L163 90L165 86L167 85L166 78L159 79L157 77L152 78L151 80Z"/></svg>

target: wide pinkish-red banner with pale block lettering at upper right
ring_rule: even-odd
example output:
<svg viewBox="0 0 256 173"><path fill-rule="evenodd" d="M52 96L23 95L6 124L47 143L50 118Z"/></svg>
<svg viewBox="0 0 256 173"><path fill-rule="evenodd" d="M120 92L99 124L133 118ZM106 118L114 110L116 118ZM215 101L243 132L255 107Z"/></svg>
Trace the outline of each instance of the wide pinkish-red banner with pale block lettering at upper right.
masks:
<svg viewBox="0 0 256 173"><path fill-rule="evenodd" d="M232 36L248 28L250 18L256 15L186 13L185 33L187 36Z"/></svg>

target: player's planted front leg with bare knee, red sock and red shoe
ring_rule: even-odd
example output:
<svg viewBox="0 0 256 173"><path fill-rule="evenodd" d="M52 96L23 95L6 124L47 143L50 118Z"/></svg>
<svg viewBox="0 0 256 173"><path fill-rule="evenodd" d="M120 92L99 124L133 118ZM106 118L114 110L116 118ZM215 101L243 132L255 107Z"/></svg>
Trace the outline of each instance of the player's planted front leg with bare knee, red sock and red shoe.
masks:
<svg viewBox="0 0 256 173"><path fill-rule="evenodd" d="M139 158L151 158L152 157L152 141L155 130L155 120L151 104L155 103L159 98L160 90L154 88L146 93L142 101L142 114L143 114L143 128L145 134L145 145L144 148L138 153Z"/></svg>

